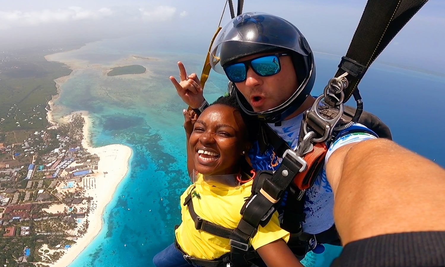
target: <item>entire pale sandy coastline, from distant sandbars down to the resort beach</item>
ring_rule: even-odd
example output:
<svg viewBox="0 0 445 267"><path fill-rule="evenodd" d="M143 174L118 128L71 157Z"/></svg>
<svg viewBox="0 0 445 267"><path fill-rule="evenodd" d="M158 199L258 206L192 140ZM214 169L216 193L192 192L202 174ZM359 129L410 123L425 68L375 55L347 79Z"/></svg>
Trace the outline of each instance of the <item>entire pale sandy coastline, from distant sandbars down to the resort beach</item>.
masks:
<svg viewBox="0 0 445 267"><path fill-rule="evenodd" d="M77 49L75 49L77 50ZM51 54L47 55L44 58L47 61L57 61L57 54ZM157 59L149 59L149 58L140 58L136 57L134 55L122 59L120 61L113 62L113 67L109 66L102 66L102 65L89 65L85 61L72 61L72 62L61 62L64 63L69 67L69 69L72 70L72 72L63 77L59 77L57 79L54 79L55 86L57 88L57 94L53 95L51 100L47 103L47 113L46 118L50 124L49 129L57 129L59 124L63 124L67 121L69 121L70 117L74 113L81 113L82 117L84 118L85 122L83 125L83 138L81 141L82 147L85 151L87 151L89 154L97 154L99 156L100 160L98 162L97 170L94 170L94 174L90 177L83 178L84 180L80 183L80 185L83 184L85 186L85 181L88 180L86 183L88 186L85 186L83 188L85 192L85 197L92 197L93 200L88 204L90 207L90 212L88 215L85 216L85 218L82 220L81 225L77 227L81 228L85 226L86 222L88 222L88 230L85 232L84 235L81 237L77 237L75 240L75 244L73 244L71 247L69 247L67 250L64 249L50 249L49 247L45 247L45 249L49 250L49 254L52 254L55 251L63 251L64 254L54 263L50 264L52 267L67 267L69 264L71 264L78 255L81 254L83 250L85 250L86 247L96 238L96 236L100 233L104 223L105 218L103 218L103 214L105 211L105 207L108 205L108 203L113 199L114 192L116 191L117 186L119 183L123 180L123 178L126 176L126 174L129 171L129 160L132 155L132 150L129 146L125 146L122 144L113 144L113 145L107 145L107 146L101 146L101 147L93 147L93 141L91 140L91 131L89 129L91 119L89 118L88 111L77 111L70 115L57 118L55 115L57 113L57 109L60 109L61 107L58 107L56 104L54 104L54 101L60 97L61 93L61 85L65 83L72 75L80 70L80 69L98 69L102 70L102 75L106 76L107 72L114 68L119 67L122 65L125 65L134 62L134 61L157 61ZM147 78L151 77L153 73L147 68L147 66L144 66L146 68L145 73L142 74L128 74L128 75L119 75L119 76L113 76L108 77L110 79L121 79L121 78ZM49 107L49 108L48 108ZM53 111L56 111L56 113L53 113ZM91 184L94 186L89 186L91 181ZM82 187L83 187L82 186ZM112 193L111 193L112 192ZM54 205L53 210L54 213L57 213L57 205ZM62 209L64 205L61 205ZM51 206L49 207L49 210L51 210ZM51 212L53 213L53 212ZM78 236L77 230L71 231L69 235L72 236ZM42 249L43 251L43 249ZM48 264L48 263L42 263L40 264Z"/></svg>

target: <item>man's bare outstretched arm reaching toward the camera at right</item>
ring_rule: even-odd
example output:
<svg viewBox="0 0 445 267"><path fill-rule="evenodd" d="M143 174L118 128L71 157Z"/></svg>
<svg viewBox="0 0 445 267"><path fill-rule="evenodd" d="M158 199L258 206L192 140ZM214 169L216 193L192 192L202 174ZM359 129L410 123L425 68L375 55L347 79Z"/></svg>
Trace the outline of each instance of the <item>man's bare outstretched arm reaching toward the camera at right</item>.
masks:
<svg viewBox="0 0 445 267"><path fill-rule="evenodd" d="M340 147L326 172L343 245L376 235L445 231L445 170L392 141Z"/></svg>

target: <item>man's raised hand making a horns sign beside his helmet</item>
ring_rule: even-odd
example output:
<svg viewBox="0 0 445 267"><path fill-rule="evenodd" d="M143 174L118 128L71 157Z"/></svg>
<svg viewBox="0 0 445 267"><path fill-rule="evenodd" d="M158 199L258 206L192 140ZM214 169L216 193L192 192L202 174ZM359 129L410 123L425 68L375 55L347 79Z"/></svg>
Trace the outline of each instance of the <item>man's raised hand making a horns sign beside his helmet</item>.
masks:
<svg viewBox="0 0 445 267"><path fill-rule="evenodd" d="M176 81L175 77L170 76L170 81L176 88L176 92L187 105L192 109L197 109L204 101L202 95L201 81L199 81L198 75L192 73L187 76L186 68L181 61L178 61L179 77L181 81Z"/></svg>

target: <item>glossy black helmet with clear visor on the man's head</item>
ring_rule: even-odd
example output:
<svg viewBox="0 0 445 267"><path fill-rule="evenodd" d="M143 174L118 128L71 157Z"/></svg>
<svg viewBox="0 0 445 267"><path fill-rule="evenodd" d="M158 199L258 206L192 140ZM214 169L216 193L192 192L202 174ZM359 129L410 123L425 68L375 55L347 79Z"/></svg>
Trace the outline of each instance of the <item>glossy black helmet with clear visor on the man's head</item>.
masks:
<svg viewBox="0 0 445 267"><path fill-rule="evenodd" d="M254 112L239 90L236 87L234 90L245 113L269 123L284 120L311 93L316 73L314 55L303 34L280 17L249 12L235 17L222 28L210 48L210 65L221 74L225 74L224 65L241 57L279 50L291 53L299 82L299 87L287 101L275 108Z"/></svg>

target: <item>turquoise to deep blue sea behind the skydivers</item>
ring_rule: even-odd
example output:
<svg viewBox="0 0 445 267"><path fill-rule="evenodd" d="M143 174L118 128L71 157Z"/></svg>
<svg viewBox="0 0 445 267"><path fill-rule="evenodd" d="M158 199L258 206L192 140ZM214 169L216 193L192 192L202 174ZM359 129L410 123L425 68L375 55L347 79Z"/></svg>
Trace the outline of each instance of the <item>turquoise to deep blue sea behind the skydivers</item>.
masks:
<svg viewBox="0 0 445 267"><path fill-rule="evenodd" d="M129 173L110 192L113 200L105 208L101 232L69 267L152 266L153 256L174 241L174 225L180 223L179 195L188 186L182 128L186 106L168 77L178 77L179 60L189 73L200 74L206 51L155 44L141 37L103 40L53 56L76 66L61 86L54 115L87 110L95 146L118 143L133 150ZM340 56L315 55L312 94L318 95L335 74ZM150 73L104 75L106 69L130 64L143 65ZM375 63L359 87L364 109L390 126L396 142L445 166L445 77ZM212 71L204 89L206 99L213 101L226 90L226 78ZM328 266L340 251L327 246L324 254L309 254L304 264Z"/></svg>

